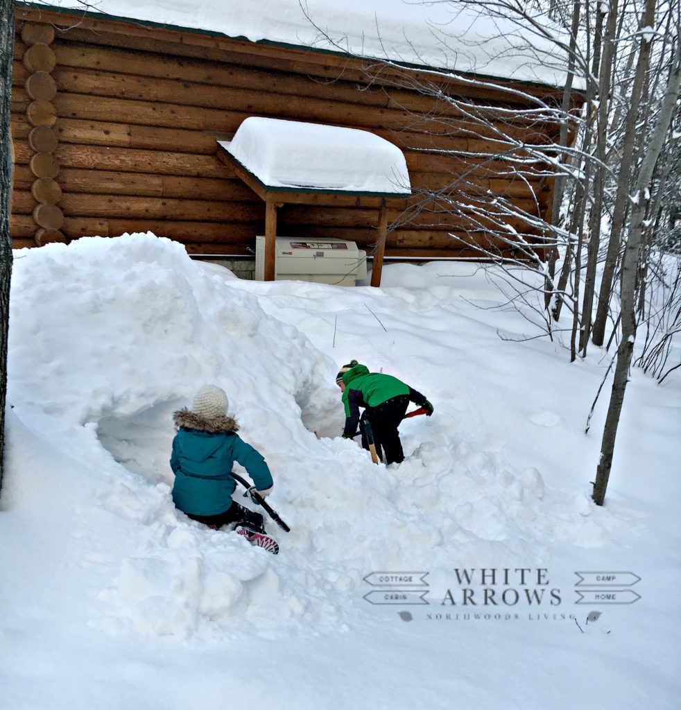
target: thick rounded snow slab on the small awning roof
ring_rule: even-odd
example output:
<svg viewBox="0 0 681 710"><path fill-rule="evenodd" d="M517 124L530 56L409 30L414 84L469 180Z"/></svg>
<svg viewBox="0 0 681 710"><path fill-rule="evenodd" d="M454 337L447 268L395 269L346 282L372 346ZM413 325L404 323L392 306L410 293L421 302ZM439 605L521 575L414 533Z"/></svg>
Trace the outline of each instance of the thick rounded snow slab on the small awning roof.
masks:
<svg viewBox="0 0 681 710"><path fill-rule="evenodd" d="M369 131L251 116L219 145L266 187L410 194L402 151Z"/></svg>

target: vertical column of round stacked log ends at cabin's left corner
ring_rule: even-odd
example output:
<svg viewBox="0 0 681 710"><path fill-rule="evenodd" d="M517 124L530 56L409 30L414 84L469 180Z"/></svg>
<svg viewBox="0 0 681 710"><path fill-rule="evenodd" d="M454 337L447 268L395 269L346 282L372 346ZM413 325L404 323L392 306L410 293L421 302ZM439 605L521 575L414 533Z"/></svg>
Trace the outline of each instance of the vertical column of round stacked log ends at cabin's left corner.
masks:
<svg viewBox="0 0 681 710"><path fill-rule="evenodd" d="M59 139L54 130L57 122L54 105L57 84L52 72L57 62L50 47L54 38L55 31L51 25L26 23L21 29L21 39L27 48L23 54L23 65L28 70L25 88L31 100L26 108L26 119L32 126L28 145L33 151L28 165L33 179L31 194L38 202L33 209L33 221L36 223L33 240L38 246L51 241L68 241L61 231L64 213L59 207L62 199L62 190L57 182L60 165L55 158Z"/></svg>

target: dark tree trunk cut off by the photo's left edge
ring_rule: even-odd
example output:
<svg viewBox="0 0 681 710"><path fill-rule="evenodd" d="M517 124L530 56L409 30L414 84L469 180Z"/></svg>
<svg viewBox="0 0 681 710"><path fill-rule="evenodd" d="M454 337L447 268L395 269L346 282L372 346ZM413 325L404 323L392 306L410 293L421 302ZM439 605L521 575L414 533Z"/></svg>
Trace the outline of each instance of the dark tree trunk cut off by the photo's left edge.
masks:
<svg viewBox="0 0 681 710"><path fill-rule="evenodd" d="M12 194L12 151L9 129L14 48L14 1L0 0L0 488L4 474L5 398L7 394L7 332L12 243L9 214Z"/></svg>

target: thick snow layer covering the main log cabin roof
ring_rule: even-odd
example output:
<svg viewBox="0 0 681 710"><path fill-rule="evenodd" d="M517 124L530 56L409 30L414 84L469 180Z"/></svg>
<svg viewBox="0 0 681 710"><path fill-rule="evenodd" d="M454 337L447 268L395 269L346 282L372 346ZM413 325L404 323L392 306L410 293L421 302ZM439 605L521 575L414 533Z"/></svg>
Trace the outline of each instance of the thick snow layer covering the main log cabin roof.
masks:
<svg viewBox="0 0 681 710"><path fill-rule="evenodd" d="M31 4L31 3L27 3ZM81 0L34 3L83 12ZM530 23L426 0L92 0L88 13L453 72L565 83L567 60ZM530 11L530 9L528 9ZM547 18L540 17L545 26ZM558 35L558 31L556 31ZM531 46L530 46L531 45Z"/></svg>

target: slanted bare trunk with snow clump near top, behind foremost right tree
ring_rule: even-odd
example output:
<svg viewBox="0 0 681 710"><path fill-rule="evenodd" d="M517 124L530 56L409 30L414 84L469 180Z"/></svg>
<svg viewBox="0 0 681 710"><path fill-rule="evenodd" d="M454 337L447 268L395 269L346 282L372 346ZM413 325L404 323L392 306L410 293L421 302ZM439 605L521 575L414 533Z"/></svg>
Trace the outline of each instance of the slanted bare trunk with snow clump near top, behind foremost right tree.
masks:
<svg viewBox="0 0 681 710"><path fill-rule="evenodd" d="M647 0L645 12L641 18L641 28L652 27L655 22L655 0ZM643 94L643 84L650 64L650 42L641 39L641 50L638 54L638 65L636 66L636 78L633 82L633 91L629 111L626 116L626 129L624 133L624 145L622 148L622 159L619 167L619 180L617 183L617 193L615 197L615 207L610 229L610 239L608 242L608 252L606 254L603 277L601 278L601 289L599 291L598 308L592 340L596 345L602 345L605 337L605 327L608 319L610 306L610 296L612 293L612 282L619 260L621 246L621 235L626 215L628 214L628 195L631 182L631 165L636 147L638 134L637 122L638 111L641 105L641 95Z"/></svg>

